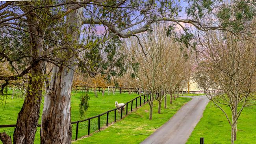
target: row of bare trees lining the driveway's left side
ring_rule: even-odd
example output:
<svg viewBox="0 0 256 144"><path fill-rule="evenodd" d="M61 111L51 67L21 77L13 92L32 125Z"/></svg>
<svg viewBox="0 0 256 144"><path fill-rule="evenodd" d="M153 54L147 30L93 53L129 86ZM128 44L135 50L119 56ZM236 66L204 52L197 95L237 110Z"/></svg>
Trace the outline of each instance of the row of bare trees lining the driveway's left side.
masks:
<svg viewBox="0 0 256 144"><path fill-rule="evenodd" d="M174 37L168 37L163 33L166 31L166 24L157 24L152 28L152 32L138 35L143 50L138 50L140 46L137 39L130 38L126 41L127 52L130 61L133 63L130 73L134 73L134 83L142 88L144 92L151 92L152 96L147 98L150 106L149 119L152 120L154 95L158 101L158 113L161 113L161 103L164 100L164 107L167 108L167 94L186 85L189 70L193 66L193 55L184 57L186 52L180 51L178 42L174 42ZM179 94L179 92L177 93Z"/></svg>

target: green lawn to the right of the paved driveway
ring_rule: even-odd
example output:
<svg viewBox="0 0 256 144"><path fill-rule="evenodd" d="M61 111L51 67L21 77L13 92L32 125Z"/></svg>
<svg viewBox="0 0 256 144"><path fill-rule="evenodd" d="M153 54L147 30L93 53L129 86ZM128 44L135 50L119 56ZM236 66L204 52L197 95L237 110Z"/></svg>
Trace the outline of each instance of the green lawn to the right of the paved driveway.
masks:
<svg viewBox="0 0 256 144"><path fill-rule="evenodd" d="M230 111L228 107L224 107ZM229 114L231 115L231 114ZM210 102L187 144L198 144L204 137L206 144L230 144L231 126L222 111ZM236 144L256 144L256 105L245 107L237 121Z"/></svg>

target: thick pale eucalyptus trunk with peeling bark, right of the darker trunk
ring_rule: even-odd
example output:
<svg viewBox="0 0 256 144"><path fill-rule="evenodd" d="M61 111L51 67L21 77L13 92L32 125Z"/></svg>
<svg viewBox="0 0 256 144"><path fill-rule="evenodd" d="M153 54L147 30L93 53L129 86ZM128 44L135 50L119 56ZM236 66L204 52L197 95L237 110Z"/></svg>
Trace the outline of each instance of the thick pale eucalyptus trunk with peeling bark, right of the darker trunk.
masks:
<svg viewBox="0 0 256 144"><path fill-rule="evenodd" d="M72 6L72 5L69 5ZM69 7L67 8L69 9ZM82 27L83 8L76 9L67 15L67 35L73 43L77 43ZM67 55L68 50L62 53ZM69 61L74 61L71 57ZM52 70L49 92L45 96L45 105L41 123L41 144L70 144L70 92L74 77L75 66L54 66Z"/></svg>

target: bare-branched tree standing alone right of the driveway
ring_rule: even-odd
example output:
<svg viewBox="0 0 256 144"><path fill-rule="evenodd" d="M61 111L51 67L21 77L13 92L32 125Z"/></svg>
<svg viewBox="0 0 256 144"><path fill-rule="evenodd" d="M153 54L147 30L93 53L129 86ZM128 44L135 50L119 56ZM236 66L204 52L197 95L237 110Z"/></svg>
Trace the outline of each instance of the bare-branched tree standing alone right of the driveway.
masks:
<svg viewBox="0 0 256 144"><path fill-rule="evenodd" d="M203 36L198 81L203 81L204 90L215 90L215 94L206 95L225 114L232 128L231 144L234 144L239 116L244 107L256 102L253 96L256 91L255 39L240 41L235 35L221 31ZM230 111L223 107L229 107Z"/></svg>

